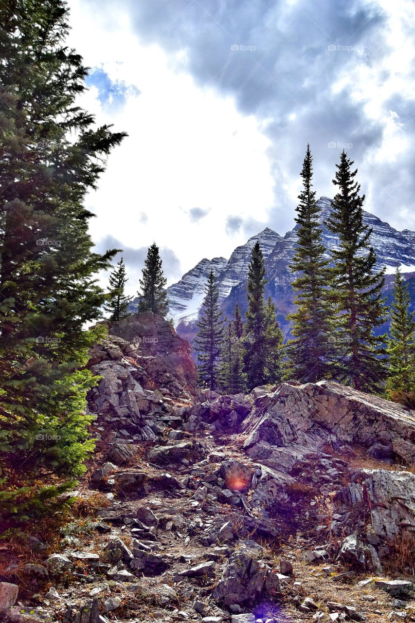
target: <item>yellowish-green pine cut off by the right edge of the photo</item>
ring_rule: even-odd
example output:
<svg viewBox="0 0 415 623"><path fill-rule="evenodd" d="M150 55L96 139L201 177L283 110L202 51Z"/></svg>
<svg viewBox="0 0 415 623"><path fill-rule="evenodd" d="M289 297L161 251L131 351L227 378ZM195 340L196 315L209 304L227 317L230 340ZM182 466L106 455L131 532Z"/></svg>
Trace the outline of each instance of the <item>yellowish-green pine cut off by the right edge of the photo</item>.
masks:
<svg viewBox="0 0 415 623"><path fill-rule="evenodd" d="M415 408L415 321L409 311L408 283L399 267L394 278L394 302L390 311L388 338L389 369L386 393L389 399Z"/></svg>

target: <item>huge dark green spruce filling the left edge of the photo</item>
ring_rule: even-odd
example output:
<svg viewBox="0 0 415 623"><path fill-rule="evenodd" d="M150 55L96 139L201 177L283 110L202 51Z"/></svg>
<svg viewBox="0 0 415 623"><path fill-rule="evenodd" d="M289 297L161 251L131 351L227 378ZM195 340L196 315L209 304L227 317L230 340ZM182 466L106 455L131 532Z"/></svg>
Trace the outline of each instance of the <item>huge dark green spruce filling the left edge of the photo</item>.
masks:
<svg viewBox="0 0 415 623"><path fill-rule="evenodd" d="M87 70L67 4L0 4L1 519L27 521L73 486L92 450L85 369L105 295L85 194L122 140L75 104Z"/></svg>

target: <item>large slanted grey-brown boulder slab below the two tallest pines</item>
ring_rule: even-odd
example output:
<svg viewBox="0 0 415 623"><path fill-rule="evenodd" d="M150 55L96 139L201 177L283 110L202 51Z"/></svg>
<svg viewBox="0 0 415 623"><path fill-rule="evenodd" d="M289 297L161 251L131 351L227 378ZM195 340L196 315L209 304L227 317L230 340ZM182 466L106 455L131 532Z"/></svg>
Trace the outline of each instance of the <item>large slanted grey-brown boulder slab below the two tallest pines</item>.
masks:
<svg viewBox="0 0 415 623"><path fill-rule="evenodd" d="M242 424L252 459L289 471L327 444L363 444L382 459L411 462L415 412L332 381L282 383L255 401Z"/></svg>

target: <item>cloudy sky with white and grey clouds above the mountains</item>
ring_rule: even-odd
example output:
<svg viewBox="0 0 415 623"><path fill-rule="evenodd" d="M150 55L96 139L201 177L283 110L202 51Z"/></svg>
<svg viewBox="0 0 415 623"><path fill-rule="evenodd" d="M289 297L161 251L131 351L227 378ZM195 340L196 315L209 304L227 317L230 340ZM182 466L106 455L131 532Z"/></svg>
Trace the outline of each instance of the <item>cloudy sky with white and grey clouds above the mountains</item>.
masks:
<svg viewBox="0 0 415 623"><path fill-rule="evenodd" d="M412 0L69 0L81 105L128 133L87 207L98 250L168 283L293 227L307 143L317 196L345 148L365 209L415 230Z"/></svg>

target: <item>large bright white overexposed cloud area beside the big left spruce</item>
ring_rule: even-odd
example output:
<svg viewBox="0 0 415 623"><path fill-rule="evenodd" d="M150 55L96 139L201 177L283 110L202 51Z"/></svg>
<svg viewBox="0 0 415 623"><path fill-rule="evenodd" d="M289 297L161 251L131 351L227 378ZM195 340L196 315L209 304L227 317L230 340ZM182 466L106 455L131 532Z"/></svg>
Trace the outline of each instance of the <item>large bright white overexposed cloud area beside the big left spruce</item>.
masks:
<svg viewBox="0 0 415 623"><path fill-rule="evenodd" d="M272 206L269 139L253 116L237 112L231 97L176 73L180 54L168 57L157 45L141 44L118 6L111 24L105 12L97 15L80 0L70 6L70 44L85 64L140 91L127 92L125 106L114 110L102 107L96 87L80 98L98 123L129 135L88 196L97 214L93 239L111 234L135 248L156 240L174 249L183 271L201 257L230 254L244 234L229 238L227 216L254 214L265 222ZM211 207L198 224L189 217L194 206Z"/></svg>

